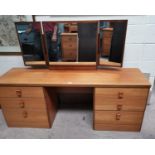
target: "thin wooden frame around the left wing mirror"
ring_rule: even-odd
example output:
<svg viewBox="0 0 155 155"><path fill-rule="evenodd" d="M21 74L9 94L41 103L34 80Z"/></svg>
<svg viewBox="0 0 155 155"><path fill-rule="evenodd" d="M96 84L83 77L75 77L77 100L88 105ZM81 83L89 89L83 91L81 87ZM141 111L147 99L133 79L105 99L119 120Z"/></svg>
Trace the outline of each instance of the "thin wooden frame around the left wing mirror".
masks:
<svg viewBox="0 0 155 155"><path fill-rule="evenodd" d="M45 47L44 47L44 40L43 40L43 37L42 37L42 30L40 29L40 34L41 34L41 45L42 45L42 51L43 51L43 56L44 56L44 61L45 61L45 63L44 63L44 61L42 61L42 62L35 62L35 61L30 61L30 62L28 62L28 61L25 61L24 60L24 52L23 52L23 50L22 50L22 47L21 47L21 43L20 43L20 40L19 40L19 35L18 35L18 30L17 30L17 24L28 24L28 23L34 23L34 21L32 21L32 22L23 22L23 21L21 21L21 22L14 22L15 23L15 28L16 28L16 34L17 34L17 38L18 38L18 42L19 42L19 46L20 46L20 49L21 49L21 54L22 54L22 57L23 57L23 62L24 62L24 65L25 66L38 66L38 67L48 67L48 64L47 64L47 55L46 55L46 52L45 52ZM41 22L35 22L35 23L39 23L40 24L40 28L41 28Z"/></svg>

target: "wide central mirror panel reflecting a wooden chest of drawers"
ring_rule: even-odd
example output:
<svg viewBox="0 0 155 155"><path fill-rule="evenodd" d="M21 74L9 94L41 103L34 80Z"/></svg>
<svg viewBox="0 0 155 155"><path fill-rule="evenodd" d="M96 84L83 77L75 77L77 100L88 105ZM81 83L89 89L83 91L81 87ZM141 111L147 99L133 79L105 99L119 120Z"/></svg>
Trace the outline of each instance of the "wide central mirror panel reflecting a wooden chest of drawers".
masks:
<svg viewBox="0 0 155 155"><path fill-rule="evenodd" d="M96 65L98 22L42 22L49 65Z"/></svg>

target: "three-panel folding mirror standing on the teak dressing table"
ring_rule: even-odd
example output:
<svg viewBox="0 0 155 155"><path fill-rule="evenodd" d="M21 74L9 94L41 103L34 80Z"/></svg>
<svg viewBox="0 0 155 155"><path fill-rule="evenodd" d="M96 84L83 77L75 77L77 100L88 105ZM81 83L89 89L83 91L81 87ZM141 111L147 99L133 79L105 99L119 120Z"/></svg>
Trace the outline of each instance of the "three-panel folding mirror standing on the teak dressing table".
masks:
<svg viewBox="0 0 155 155"><path fill-rule="evenodd" d="M126 20L15 25L25 65L122 66Z"/></svg>

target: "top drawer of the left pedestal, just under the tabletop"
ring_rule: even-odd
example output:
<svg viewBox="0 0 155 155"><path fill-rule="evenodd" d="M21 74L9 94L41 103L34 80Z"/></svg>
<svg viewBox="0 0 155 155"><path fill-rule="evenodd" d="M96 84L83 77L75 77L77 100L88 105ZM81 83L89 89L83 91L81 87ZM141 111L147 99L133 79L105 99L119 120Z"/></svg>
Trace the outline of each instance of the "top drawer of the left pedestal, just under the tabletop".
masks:
<svg viewBox="0 0 155 155"><path fill-rule="evenodd" d="M0 97L44 97L42 87L0 87Z"/></svg>

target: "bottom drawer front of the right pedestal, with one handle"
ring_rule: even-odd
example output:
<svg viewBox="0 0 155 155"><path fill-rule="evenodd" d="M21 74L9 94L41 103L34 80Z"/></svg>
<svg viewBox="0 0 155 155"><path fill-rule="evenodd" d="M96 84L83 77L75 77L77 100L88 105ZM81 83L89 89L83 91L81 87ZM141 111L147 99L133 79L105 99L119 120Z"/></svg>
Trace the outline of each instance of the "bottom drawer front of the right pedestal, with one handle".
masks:
<svg viewBox="0 0 155 155"><path fill-rule="evenodd" d="M94 115L96 124L140 125L142 119L143 112L95 111Z"/></svg>

